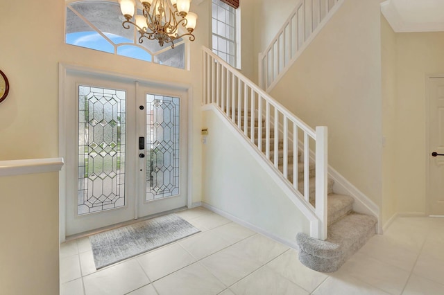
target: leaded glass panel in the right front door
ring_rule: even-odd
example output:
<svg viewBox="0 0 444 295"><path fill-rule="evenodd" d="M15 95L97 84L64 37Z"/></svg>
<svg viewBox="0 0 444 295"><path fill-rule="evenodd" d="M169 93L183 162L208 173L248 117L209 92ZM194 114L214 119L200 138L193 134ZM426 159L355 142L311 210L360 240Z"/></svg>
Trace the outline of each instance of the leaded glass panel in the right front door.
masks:
<svg viewBox="0 0 444 295"><path fill-rule="evenodd" d="M179 98L146 96L146 201L179 194Z"/></svg>

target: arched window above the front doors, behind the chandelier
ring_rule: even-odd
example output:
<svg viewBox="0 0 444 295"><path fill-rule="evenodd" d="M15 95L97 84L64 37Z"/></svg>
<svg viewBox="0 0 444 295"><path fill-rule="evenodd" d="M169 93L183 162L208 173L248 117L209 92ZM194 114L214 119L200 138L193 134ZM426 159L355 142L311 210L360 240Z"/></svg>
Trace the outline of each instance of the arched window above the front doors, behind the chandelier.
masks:
<svg viewBox="0 0 444 295"><path fill-rule="evenodd" d="M139 43L134 27L123 28L117 1L67 1L66 6L67 44L185 69L184 40L174 48L149 40Z"/></svg>

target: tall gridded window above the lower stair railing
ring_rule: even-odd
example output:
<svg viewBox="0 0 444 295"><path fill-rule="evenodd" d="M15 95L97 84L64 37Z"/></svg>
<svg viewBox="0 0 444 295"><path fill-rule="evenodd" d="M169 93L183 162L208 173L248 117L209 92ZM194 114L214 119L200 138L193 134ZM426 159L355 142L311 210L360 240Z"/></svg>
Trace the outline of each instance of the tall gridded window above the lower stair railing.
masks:
<svg viewBox="0 0 444 295"><path fill-rule="evenodd" d="M231 66L240 68L237 30L237 10L221 0L212 0L212 50Z"/></svg>

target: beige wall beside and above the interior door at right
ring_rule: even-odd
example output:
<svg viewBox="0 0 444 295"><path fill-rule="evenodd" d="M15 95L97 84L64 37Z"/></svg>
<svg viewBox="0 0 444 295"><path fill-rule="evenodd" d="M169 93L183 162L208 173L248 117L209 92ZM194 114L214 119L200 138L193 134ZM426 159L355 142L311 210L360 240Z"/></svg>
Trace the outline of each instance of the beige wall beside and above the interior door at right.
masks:
<svg viewBox="0 0 444 295"><path fill-rule="evenodd" d="M396 183L398 211L426 212L426 75L444 74L444 33L398 33Z"/></svg>

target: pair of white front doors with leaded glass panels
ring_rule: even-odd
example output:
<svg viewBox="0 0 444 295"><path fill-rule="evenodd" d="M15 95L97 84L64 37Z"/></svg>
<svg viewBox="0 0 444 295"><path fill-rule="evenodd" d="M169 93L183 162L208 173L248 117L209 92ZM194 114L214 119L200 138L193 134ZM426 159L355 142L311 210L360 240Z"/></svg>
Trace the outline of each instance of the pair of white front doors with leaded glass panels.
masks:
<svg viewBox="0 0 444 295"><path fill-rule="evenodd" d="M186 95L67 74L65 235L186 206Z"/></svg>

